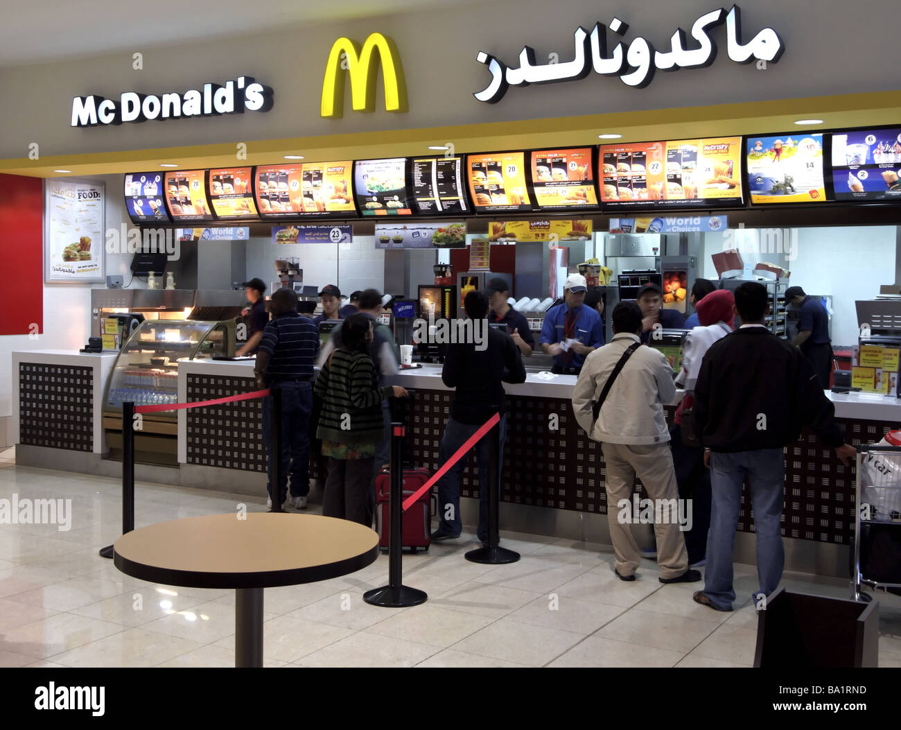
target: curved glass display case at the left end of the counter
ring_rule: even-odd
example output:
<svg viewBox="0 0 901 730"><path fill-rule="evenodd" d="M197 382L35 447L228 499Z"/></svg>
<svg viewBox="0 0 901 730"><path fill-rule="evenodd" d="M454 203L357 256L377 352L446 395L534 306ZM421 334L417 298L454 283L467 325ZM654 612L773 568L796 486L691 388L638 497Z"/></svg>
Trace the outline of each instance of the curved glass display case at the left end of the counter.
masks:
<svg viewBox="0 0 901 730"><path fill-rule="evenodd" d="M107 381L104 410L122 415L122 404L177 403L178 360L234 354L235 323L147 320L128 338ZM176 411L152 414L174 420Z"/></svg>

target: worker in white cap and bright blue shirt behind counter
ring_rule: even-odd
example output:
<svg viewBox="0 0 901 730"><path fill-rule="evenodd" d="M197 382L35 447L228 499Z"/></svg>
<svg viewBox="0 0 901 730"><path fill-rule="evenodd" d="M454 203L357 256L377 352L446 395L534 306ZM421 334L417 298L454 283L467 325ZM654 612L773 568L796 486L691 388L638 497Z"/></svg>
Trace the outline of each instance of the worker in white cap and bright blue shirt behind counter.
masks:
<svg viewBox="0 0 901 730"><path fill-rule="evenodd" d="M604 344L604 322L596 309L585 306L587 286L581 274L570 274L563 285L564 302L544 315L542 352L553 357L551 372L578 375L585 356Z"/></svg>

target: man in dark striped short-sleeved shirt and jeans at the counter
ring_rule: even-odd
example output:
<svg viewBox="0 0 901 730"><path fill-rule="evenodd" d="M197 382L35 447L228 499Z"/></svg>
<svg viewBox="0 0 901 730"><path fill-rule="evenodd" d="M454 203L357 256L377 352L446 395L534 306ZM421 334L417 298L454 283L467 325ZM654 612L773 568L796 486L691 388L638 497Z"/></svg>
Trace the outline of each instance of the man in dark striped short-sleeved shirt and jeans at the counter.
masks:
<svg viewBox="0 0 901 730"><path fill-rule="evenodd" d="M253 373L259 388L281 392L281 454L278 499L287 497L287 475L291 475L288 505L306 508L310 492L310 410L313 407L313 363L319 350L319 333L313 322L297 311L297 295L283 288L269 302L272 319L259 342ZM266 443L268 506L272 506L272 397L263 398L263 442Z"/></svg>

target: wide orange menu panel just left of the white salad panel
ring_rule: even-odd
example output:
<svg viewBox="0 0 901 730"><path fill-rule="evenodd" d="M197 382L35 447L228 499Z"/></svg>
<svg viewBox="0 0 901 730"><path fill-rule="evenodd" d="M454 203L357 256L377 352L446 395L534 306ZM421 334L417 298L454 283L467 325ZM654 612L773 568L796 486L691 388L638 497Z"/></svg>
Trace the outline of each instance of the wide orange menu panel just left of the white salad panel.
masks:
<svg viewBox="0 0 901 730"><path fill-rule="evenodd" d="M258 167L257 205L262 218L356 217L350 160Z"/></svg>

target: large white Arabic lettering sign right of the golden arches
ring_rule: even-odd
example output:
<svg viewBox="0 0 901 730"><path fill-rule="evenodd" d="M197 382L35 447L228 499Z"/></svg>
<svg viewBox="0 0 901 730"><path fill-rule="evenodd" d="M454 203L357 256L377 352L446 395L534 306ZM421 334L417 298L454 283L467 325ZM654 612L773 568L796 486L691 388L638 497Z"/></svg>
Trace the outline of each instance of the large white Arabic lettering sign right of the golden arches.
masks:
<svg viewBox="0 0 901 730"><path fill-rule="evenodd" d="M654 50L651 41L641 36L629 42L619 41L613 50L609 50L607 31L614 33L615 41L616 35L623 36L629 29L626 23L614 18L609 28L604 23L596 23L590 33L579 26L574 33L575 55L571 61L564 63L536 63L535 50L531 46L523 46L519 54L519 67L508 67L502 60L480 50L476 59L487 65L491 83L473 96L478 101L494 104L504 97L508 87L586 78L592 69L600 76L618 76L628 87L643 88L651 83L657 69L675 71L710 66L716 58L716 43L710 31L723 23L726 24L726 50L735 63L751 63L754 60L763 64L767 61L775 63L785 50L782 39L772 28L764 28L750 42L742 43L742 19L738 5L733 5L728 14L723 8L717 8L699 17L691 26L690 45L695 48L688 47L686 32L678 28L670 38L668 51ZM763 65L760 68L766 67Z"/></svg>

